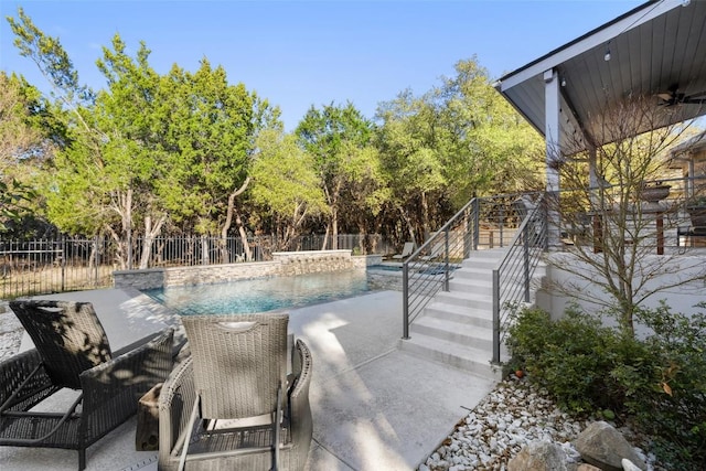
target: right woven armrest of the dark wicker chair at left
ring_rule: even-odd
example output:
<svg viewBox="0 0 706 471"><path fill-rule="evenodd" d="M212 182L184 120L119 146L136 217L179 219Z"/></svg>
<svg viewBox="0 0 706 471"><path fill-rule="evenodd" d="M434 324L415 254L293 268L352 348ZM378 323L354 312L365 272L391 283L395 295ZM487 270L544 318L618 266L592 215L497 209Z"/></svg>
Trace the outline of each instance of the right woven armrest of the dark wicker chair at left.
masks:
<svg viewBox="0 0 706 471"><path fill-rule="evenodd" d="M81 374L82 428L100 437L137 411L139 398L172 370L173 329Z"/></svg>

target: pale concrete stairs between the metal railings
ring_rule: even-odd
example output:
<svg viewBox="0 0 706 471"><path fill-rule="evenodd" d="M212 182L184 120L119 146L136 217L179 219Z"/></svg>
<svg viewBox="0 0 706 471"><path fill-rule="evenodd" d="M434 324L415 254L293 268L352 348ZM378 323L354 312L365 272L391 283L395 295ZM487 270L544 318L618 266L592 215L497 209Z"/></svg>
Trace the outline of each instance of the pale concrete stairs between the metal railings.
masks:
<svg viewBox="0 0 706 471"><path fill-rule="evenodd" d="M409 339L400 340L400 349L481 377L501 381L502 368L491 364L492 274L504 255L504 248L477 250L463 260L461 267L453 271L449 291L439 291L411 322ZM537 271L543 275L541 267Z"/></svg>

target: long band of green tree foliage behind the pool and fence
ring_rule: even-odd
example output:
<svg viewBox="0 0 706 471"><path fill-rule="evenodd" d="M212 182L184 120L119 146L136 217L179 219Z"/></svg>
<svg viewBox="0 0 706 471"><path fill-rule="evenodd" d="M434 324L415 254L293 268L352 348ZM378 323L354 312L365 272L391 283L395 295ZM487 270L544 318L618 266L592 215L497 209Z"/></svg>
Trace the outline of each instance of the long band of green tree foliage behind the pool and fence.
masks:
<svg viewBox="0 0 706 471"><path fill-rule="evenodd" d="M379 128L351 103L312 107L293 132L300 149L287 143L287 165L272 167L278 172L268 178L264 168L272 162L257 156L256 140L264 130L281 132L279 109L244 84L229 84L223 67L204 58L195 72L174 64L160 75L145 43L132 54L116 34L96 62L107 87L94 93L58 38L45 35L22 9L8 21L20 54L53 87L51 100L23 87L31 99L22 107L31 113L21 118L41 127L30 149L43 154L47 171L33 172L32 184L63 232L108 233L124 249L162 227L225 235L233 224L240 234L291 234L301 226L408 239L438 228L473 194L536 188L526 176L542 165L534 159L541 139L474 58L420 97L404 92L381 105ZM18 133L2 127L0 135ZM293 172L289 183L306 191L287 202L291 188L282 185L278 196L272 176L301 168L300 150L318 189ZM298 205L302 200L308 203Z"/></svg>

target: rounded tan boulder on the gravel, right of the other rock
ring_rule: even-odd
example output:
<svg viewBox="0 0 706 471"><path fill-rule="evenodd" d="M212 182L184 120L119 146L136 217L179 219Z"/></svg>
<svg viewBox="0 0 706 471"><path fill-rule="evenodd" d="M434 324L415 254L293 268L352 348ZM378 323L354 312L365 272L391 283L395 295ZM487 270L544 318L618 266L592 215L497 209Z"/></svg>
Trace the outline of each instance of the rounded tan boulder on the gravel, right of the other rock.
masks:
<svg viewBox="0 0 706 471"><path fill-rule="evenodd" d="M603 471L623 471L622 459L627 458L639 469L646 464L632 446L610 424L599 420L586 427L575 441L581 459Z"/></svg>

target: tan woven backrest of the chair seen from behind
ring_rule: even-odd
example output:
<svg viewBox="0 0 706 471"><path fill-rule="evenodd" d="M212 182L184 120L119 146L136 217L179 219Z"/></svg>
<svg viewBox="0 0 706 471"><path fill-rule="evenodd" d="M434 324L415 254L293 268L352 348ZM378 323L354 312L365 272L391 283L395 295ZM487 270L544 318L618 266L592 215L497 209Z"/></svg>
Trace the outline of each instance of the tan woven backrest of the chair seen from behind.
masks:
<svg viewBox="0 0 706 471"><path fill-rule="evenodd" d="M277 410L287 379L288 313L183 315L201 416L256 417Z"/></svg>

